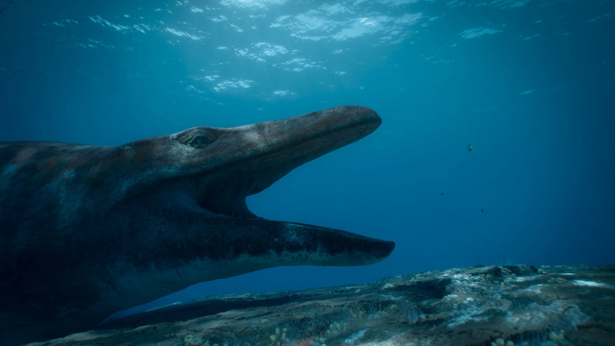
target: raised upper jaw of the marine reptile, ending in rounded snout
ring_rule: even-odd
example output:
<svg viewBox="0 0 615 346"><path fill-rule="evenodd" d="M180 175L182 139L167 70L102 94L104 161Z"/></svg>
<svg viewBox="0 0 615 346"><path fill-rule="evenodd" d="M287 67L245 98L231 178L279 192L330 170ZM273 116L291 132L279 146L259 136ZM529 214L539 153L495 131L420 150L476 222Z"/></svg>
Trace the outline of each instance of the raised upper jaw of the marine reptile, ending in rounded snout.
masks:
<svg viewBox="0 0 615 346"><path fill-rule="evenodd" d="M177 161L173 171L192 177L201 177L204 171L208 175L229 170L287 173L362 139L380 123L369 108L344 106L239 127L208 128L215 132L215 140L205 148L186 151L185 161ZM259 191L248 191L248 195Z"/></svg>

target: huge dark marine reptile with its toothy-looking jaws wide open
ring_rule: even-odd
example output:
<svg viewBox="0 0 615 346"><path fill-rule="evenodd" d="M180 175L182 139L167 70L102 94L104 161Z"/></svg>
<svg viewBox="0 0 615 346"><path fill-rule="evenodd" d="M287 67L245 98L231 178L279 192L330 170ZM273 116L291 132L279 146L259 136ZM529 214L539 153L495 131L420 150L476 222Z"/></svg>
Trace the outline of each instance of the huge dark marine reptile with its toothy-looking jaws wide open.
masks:
<svg viewBox="0 0 615 346"><path fill-rule="evenodd" d="M92 329L202 281L383 260L394 243L264 220L245 206L380 122L344 106L121 147L0 142L0 344Z"/></svg>

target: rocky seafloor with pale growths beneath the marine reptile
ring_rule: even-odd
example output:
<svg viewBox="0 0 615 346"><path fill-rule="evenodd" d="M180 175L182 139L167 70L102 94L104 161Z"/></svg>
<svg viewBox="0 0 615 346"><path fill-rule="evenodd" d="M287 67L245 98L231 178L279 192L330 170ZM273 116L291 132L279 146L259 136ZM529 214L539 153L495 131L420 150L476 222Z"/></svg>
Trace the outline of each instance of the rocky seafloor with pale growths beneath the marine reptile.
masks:
<svg viewBox="0 0 615 346"><path fill-rule="evenodd" d="M209 296L30 345L615 345L615 266L476 266Z"/></svg>

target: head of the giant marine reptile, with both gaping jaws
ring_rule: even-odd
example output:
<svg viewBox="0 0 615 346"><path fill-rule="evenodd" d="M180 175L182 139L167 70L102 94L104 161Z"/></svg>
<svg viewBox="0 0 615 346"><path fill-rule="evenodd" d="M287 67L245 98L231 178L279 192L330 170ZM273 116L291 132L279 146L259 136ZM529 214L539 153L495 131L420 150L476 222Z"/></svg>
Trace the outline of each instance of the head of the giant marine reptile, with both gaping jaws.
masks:
<svg viewBox="0 0 615 346"><path fill-rule="evenodd" d="M362 139L380 124L381 118L370 108L343 106L239 127L192 127L129 143L117 148L114 157L138 168L135 181L122 185L127 195L145 198L156 207L197 212L202 219L200 227L194 228L196 233L203 232L205 224L220 230L232 223L225 233L228 239L254 236L250 244L237 239L242 244L233 246L236 256L275 252L287 254L276 265L365 265L386 258L395 243L332 228L264 220L248 209L245 198L295 167ZM183 229L189 233L192 227L183 225ZM249 234L240 231L245 229L250 229ZM197 241L194 249L186 251L198 257L207 242Z"/></svg>

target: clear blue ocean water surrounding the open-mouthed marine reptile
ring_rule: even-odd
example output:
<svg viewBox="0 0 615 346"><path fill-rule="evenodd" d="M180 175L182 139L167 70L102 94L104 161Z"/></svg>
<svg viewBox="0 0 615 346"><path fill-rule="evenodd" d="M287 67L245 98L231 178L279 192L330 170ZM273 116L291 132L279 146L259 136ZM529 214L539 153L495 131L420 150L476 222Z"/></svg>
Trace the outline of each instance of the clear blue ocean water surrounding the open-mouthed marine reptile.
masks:
<svg viewBox="0 0 615 346"><path fill-rule="evenodd" d="M611 0L4 0L0 32L0 140L116 146L338 105L383 118L247 202L395 241L388 259L261 270L130 312L476 264L615 263Z"/></svg>

